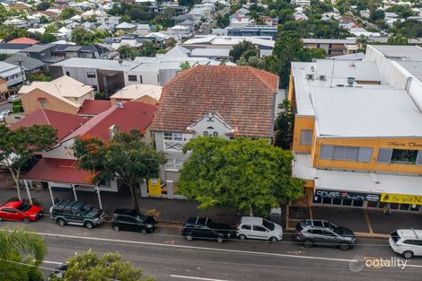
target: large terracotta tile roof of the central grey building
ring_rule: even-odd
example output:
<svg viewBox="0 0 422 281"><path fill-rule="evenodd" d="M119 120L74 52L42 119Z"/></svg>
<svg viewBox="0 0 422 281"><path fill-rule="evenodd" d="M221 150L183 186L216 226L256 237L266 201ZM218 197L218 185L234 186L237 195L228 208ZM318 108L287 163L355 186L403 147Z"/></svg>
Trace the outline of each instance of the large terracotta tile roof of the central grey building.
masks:
<svg viewBox="0 0 422 281"><path fill-rule="evenodd" d="M164 86L152 130L188 132L212 112L234 135L271 137L277 90L277 75L251 66L195 66Z"/></svg>

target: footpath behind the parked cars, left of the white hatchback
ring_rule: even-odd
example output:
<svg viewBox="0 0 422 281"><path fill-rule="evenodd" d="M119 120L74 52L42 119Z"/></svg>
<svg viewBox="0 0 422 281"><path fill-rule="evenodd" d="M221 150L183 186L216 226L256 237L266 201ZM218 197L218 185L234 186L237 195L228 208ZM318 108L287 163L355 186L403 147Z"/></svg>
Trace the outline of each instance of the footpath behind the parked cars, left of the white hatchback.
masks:
<svg viewBox="0 0 422 281"><path fill-rule="evenodd" d="M21 191L22 198L28 198L26 190ZM92 206L99 207L97 194L89 191L76 191L78 200L84 201ZM0 202L9 198L17 197L17 191L13 189L0 189ZM31 189L32 199L40 202L44 212L48 212L53 205L48 190ZM74 193L70 189L54 189L53 197L59 200L75 200ZM108 214L112 214L117 208L131 208L132 198L130 195L122 195L115 192L101 192L102 209ZM155 210L158 221L163 223L183 224L191 216L209 216L215 221L225 224L236 224L238 215L233 208L210 207L205 210L198 209L198 203L165 198L139 198L139 205L143 212Z"/></svg>

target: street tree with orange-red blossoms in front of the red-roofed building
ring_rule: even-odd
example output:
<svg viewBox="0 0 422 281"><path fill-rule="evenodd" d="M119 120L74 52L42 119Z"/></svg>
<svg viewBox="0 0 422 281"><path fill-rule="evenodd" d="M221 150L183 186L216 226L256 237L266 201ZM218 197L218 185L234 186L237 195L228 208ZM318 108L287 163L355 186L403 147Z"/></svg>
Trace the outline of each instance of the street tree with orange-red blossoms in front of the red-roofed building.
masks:
<svg viewBox="0 0 422 281"><path fill-rule="evenodd" d="M138 189L144 180L156 178L166 161L146 143L138 130L117 131L109 143L97 137L83 136L75 140L75 156L79 168L92 172L92 182L114 180L130 189L133 208L139 210Z"/></svg>

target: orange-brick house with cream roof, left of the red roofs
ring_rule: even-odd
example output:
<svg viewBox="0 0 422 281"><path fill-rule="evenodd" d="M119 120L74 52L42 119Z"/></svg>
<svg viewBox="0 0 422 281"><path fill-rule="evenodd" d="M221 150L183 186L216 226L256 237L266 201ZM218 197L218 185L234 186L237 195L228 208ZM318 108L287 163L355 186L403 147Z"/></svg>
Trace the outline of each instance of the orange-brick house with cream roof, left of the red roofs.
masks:
<svg viewBox="0 0 422 281"><path fill-rule="evenodd" d="M77 114L85 100L93 100L93 89L69 76L51 82L33 82L22 86L22 106L25 114L47 109Z"/></svg>

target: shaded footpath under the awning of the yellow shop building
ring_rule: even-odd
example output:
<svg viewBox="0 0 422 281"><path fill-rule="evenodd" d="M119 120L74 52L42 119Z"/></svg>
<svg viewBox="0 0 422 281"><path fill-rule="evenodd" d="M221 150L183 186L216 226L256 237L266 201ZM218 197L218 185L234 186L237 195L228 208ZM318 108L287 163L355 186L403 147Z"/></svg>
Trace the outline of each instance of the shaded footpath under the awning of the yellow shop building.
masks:
<svg viewBox="0 0 422 281"><path fill-rule="evenodd" d="M287 230L294 230L301 219L324 219L332 224L345 226L358 236L388 237L400 228L422 229L422 215L411 212L391 212L383 215L381 209L360 209L338 206L312 206L311 208L289 208Z"/></svg>

